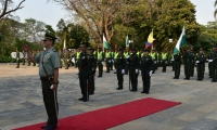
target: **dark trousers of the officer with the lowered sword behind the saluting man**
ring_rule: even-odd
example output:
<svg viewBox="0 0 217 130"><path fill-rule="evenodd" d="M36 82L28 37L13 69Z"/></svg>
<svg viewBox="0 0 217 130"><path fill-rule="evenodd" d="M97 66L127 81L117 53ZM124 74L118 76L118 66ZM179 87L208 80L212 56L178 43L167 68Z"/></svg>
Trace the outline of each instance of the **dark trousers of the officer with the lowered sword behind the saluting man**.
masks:
<svg viewBox="0 0 217 130"><path fill-rule="evenodd" d="M80 82L80 90L84 99L89 98L88 91L88 69L87 68L79 68L79 82Z"/></svg>

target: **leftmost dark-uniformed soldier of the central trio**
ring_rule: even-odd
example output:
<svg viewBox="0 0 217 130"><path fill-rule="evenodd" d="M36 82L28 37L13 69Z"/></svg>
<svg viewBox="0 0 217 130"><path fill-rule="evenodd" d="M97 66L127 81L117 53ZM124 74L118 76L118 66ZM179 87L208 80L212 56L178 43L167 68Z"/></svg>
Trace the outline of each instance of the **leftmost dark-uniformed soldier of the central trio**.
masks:
<svg viewBox="0 0 217 130"><path fill-rule="evenodd" d="M125 74L125 68L126 68L126 58L124 56L124 50L119 49L118 50L119 54L117 56L116 60L116 66L117 66L117 84L118 88L116 88L117 90L122 90L123 89L123 82L124 82L124 74Z"/></svg>

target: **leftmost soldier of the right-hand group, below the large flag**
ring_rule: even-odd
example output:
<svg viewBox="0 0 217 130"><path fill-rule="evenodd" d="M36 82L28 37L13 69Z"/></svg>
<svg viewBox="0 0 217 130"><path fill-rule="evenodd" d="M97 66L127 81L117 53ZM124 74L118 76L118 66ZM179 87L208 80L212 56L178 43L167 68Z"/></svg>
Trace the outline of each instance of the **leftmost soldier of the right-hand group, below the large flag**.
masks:
<svg viewBox="0 0 217 130"><path fill-rule="evenodd" d="M181 54L180 53L176 53L173 56L174 56L174 72L175 72L174 79L179 79L180 67L181 67Z"/></svg>

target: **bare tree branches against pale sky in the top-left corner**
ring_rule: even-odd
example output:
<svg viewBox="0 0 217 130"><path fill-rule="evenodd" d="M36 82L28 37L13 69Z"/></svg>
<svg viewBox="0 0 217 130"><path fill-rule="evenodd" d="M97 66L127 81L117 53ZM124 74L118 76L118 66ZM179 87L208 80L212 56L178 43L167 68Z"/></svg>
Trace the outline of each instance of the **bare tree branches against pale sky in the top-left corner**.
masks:
<svg viewBox="0 0 217 130"><path fill-rule="evenodd" d="M1 8L0 8L0 21L7 16L9 16L12 12L15 12L20 9L22 9L22 4L25 0L22 0L18 5L13 8L13 1L12 0L0 0Z"/></svg>

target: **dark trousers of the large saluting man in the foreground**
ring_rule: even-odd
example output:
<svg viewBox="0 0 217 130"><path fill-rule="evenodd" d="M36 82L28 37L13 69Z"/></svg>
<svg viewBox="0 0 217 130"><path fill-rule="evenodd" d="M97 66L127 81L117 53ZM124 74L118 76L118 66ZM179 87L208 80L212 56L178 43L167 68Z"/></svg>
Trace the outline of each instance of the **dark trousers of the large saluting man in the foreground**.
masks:
<svg viewBox="0 0 217 130"><path fill-rule="evenodd" d="M42 95L43 95L43 103L46 106L46 110L48 114L48 121L47 125L51 125L51 126L56 126L58 123L58 116L56 116L56 112L59 112L59 105L58 105L58 100L54 100L54 92L55 95L58 95L56 91L53 91L50 89L51 87L51 82L49 80L41 80L42 83ZM55 96L55 99L58 99ZM55 103L56 102L56 109L55 109Z"/></svg>

